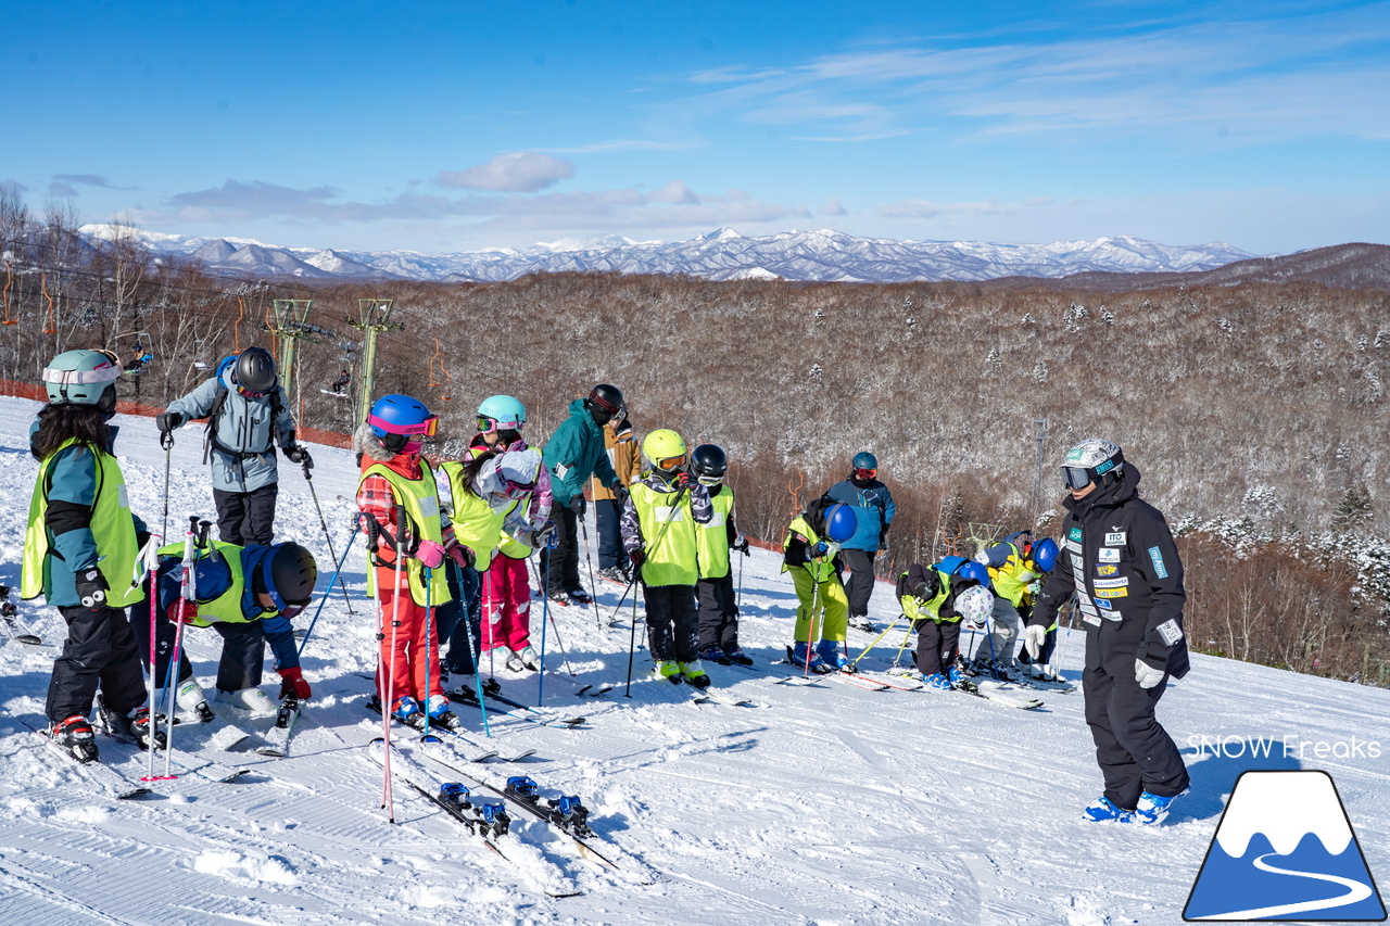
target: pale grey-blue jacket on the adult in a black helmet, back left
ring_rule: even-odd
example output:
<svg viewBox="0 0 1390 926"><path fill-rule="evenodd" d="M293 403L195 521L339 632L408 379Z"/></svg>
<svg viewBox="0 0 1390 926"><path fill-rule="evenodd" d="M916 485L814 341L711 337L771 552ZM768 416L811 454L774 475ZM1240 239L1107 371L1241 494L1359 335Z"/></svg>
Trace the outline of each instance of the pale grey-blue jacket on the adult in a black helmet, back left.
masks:
<svg viewBox="0 0 1390 926"><path fill-rule="evenodd" d="M213 410L224 391L227 400L211 423L213 488L254 492L279 481L274 442L285 449L295 446L295 419L285 407L288 403L281 387L277 385L271 395L247 399L232 387L231 370L227 370L171 402L168 410L189 420L200 419ZM277 405L279 414L274 413Z"/></svg>

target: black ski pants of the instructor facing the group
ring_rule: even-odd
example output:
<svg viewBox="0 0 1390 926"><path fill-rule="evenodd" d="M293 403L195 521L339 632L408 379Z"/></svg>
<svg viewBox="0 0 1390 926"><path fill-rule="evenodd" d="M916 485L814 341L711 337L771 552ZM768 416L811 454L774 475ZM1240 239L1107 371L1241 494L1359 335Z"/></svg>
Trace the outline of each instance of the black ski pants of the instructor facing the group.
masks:
<svg viewBox="0 0 1390 926"><path fill-rule="evenodd" d="M1154 715L1168 677L1152 688L1140 688L1133 651L1102 663L1097 649L1095 641L1087 640L1081 691L1095 761L1105 777L1105 797L1115 806L1131 811L1144 791L1161 797L1182 793L1187 787L1187 766Z"/></svg>

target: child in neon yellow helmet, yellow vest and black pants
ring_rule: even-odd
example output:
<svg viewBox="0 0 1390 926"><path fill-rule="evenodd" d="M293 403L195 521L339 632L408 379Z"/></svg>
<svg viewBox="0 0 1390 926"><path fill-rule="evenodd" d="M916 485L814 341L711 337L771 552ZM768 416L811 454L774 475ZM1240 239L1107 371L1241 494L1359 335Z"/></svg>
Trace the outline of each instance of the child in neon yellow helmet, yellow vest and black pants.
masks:
<svg viewBox="0 0 1390 926"><path fill-rule="evenodd" d="M653 674L709 687L699 662L695 583L699 580L696 531L713 516L709 491L685 466L685 441L660 428L642 441L646 471L632 482L623 506L623 548L642 583L646 644Z"/></svg>

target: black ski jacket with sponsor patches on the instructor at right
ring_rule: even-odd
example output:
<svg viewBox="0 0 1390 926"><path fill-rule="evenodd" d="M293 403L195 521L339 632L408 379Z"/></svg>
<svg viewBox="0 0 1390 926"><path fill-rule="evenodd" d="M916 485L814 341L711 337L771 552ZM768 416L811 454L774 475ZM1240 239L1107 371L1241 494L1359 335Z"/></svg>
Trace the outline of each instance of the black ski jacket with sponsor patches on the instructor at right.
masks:
<svg viewBox="0 0 1390 926"><path fill-rule="evenodd" d="M1049 627L1074 594L1106 672L1133 672L1138 658L1182 679L1191 667L1183 633L1183 562L1162 513L1138 496L1138 470L1126 463L1120 482L1062 502L1070 512L1062 524L1062 556L1029 624Z"/></svg>

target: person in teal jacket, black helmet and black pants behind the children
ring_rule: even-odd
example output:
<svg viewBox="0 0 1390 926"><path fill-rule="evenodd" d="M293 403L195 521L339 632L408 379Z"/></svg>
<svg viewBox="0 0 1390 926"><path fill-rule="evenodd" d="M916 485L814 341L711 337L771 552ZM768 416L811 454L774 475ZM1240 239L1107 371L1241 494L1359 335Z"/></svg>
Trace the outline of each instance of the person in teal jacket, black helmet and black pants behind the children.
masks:
<svg viewBox="0 0 1390 926"><path fill-rule="evenodd" d="M584 517L584 484L591 476L607 485L619 499L627 489L613 471L603 448L603 425L627 414L623 393L616 387L600 382L587 399L570 403L570 417L560 423L545 442L545 469L550 473L550 492L555 505L550 520L559 545L545 551L546 594L552 601L569 605L588 603L592 595L580 585L580 519Z"/></svg>

